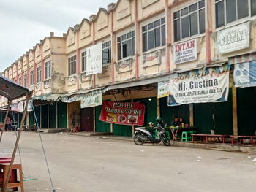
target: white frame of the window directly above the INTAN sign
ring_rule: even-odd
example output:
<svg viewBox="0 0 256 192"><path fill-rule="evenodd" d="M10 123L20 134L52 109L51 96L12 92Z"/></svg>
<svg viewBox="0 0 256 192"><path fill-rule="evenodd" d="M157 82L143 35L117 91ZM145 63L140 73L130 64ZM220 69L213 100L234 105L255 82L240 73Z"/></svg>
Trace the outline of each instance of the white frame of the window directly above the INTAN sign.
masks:
<svg viewBox="0 0 256 192"><path fill-rule="evenodd" d="M200 2L201 0L197 0L197 1L193 1L192 3L189 3L189 4L186 4L186 6L182 6L182 7L178 7L178 9L175 9L175 10L173 10L173 15L174 15L174 13L176 13L176 12L180 12L180 16L179 16L179 18L174 18L174 16L173 16L173 41L174 42L180 42L180 41L183 41L184 39L189 39L189 38L192 38L192 37L195 37L195 36L198 36L198 35L202 35L202 34L205 34L205 32L206 32L206 1L208 1L208 0L205 0L205 5L204 5L204 7L201 7L201 8L199 8L199 2ZM214 0L215 1L215 0ZM181 16L181 10L182 9L185 9L185 8L187 8L188 7L188 9L189 9L189 7L190 6L192 6L192 4L196 4L197 3L197 9L195 10L195 11L193 11L193 12L188 12L186 15L182 15ZM200 10L202 10L202 9L205 9L205 31L203 32L203 33L200 33L200 15L199 15L199 12L200 12ZM194 35L191 35L190 34L190 15L192 15L192 14L194 14L195 12L197 12L197 34L194 34ZM188 37L182 37L182 24L181 24L181 20L182 20L182 18L186 18L186 17L189 17L189 36ZM178 39L178 40L175 40L175 28L174 28L174 22L176 21L176 20L180 20L180 27L179 27L179 31L180 31L180 39Z"/></svg>

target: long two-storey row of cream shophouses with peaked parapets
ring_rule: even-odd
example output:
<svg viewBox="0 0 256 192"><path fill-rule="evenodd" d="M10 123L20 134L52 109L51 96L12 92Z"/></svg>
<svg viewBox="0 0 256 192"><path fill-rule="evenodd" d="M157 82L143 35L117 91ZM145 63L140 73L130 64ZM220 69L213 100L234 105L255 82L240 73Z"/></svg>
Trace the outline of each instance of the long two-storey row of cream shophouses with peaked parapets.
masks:
<svg viewBox="0 0 256 192"><path fill-rule="evenodd" d="M144 126L178 116L200 133L254 135L255 15L256 0L118 0L2 75L33 91L40 128L129 136L135 126L99 120L102 102L125 101L144 104Z"/></svg>

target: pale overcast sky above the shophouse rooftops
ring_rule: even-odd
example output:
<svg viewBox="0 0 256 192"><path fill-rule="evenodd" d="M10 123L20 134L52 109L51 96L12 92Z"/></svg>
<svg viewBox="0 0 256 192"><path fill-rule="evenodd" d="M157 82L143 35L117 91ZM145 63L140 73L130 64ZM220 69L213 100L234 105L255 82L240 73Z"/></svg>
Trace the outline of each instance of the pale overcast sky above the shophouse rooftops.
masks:
<svg viewBox="0 0 256 192"><path fill-rule="evenodd" d="M111 2L116 0L0 0L0 72L50 32L61 36Z"/></svg>

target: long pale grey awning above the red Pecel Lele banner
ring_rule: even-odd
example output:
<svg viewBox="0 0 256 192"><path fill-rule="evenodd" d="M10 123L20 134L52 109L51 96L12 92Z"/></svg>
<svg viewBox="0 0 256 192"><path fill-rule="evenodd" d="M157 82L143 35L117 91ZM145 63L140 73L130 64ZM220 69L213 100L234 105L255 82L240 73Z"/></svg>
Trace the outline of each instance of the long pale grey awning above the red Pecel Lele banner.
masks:
<svg viewBox="0 0 256 192"><path fill-rule="evenodd" d="M150 85L162 81L167 81L173 78L177 78L178 74L163 74L162 76L158 77L151 77L147 78L145 80L136 80L132 82L122 82L120 84L115 84L115 85L108 85L106 88L104 88L104 93L109 91L109 90L114 90L114 89L119 89L119 88L131 88L131 87L137 87L141 85Z"/></svg>

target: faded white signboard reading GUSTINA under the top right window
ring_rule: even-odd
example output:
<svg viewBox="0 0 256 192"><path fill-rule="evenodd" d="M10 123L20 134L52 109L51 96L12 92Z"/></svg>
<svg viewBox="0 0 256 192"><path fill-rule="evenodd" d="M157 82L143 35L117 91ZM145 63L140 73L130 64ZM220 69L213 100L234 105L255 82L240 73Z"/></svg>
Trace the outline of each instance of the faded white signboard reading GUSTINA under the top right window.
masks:
<svg viewBox="0 0 256 192"><path fill-rule="evenodd" d="M249 22L217 32L219 54L230 53L249 47Z"/></svg>

